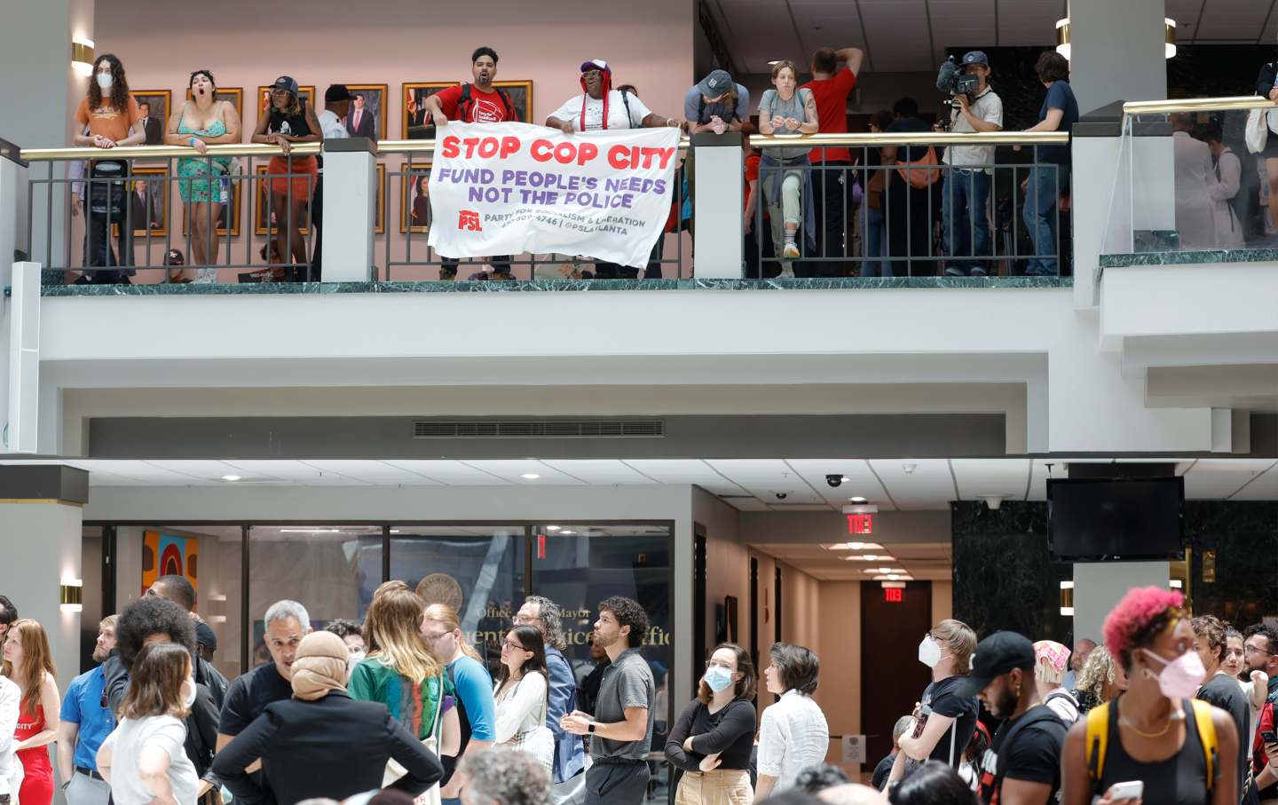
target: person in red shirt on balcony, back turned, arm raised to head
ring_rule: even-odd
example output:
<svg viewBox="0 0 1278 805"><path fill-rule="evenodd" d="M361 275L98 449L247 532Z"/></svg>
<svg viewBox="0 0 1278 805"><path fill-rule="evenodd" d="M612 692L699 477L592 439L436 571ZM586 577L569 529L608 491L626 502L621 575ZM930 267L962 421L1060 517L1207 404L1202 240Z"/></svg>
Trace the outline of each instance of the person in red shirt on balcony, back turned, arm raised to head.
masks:
<svg viewBox="0 0 1278 805"><path fill-rule="evenodd" d="M847 132L847 96L856 86L865 54L859 47L820 47L812 55L812 80L803 86L817 98L817 118L822 134ZM845 66L840 69L840 63ZM819 254L826 258L843 257L843 233L852 206L852 183L849 176L852 153L846 148L813 148L812 161L813 202L817 220L823 226L818 231ZM824 170L822 170L824 169ZM817 263L817 276L840 276L842 264L831 259Z"/></svg>

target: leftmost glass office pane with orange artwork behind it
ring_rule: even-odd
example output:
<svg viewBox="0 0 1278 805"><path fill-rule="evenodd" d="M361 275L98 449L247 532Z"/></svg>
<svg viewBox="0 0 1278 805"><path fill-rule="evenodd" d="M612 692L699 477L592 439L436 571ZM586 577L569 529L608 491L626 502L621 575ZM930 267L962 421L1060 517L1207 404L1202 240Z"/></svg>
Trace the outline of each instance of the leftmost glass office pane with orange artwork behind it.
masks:
<svg viewBox="0 0 1278 805"><path fill-rule="evenodd" d="M217 639L212 663L227 678L240 664L243 529L239 525L115 526L116 612L160 576L180 575L196 588L196 615Z"/></svg>

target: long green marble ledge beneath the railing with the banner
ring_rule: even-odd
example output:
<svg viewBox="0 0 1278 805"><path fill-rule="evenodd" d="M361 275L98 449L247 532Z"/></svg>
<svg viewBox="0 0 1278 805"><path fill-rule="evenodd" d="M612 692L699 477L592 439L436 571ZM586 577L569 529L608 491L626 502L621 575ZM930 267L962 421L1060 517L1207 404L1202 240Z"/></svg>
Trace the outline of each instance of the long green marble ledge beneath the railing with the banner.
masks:
<svg viewBox="0 0 1278 805"><path fill-rule="evenodd" d="M1072 277L815 277L776 280L512 280L507 282L252 282L244 285L46 285L42 296L224 296L238 294L496 294L608 290L852 290L1072 288Z"/></svg>

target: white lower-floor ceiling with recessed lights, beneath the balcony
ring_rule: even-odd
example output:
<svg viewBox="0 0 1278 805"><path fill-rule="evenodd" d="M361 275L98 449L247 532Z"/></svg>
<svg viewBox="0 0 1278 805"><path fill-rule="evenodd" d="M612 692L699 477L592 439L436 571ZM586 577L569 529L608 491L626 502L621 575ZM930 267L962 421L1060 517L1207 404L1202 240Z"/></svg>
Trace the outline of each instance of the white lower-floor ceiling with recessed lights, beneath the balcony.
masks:
<svg viewBox="0 0 1278 805"><path fill-rule="evenodd" d="M1001 494L1012 501L1047 497L1051 471L1066 463L1109 459L661 459L661 460L109 460L64 464L89 471L95 487L238 486L647 486L697 484L741 511L838 511L854 496L882 511L943 510L952 501ZM1168 461L1174 459L1153 459ZM1123 460L1128 461L1128 460ZM6 460L3 464L19 464ZM47 464L49 461L36 461ZM1190 500L1278 500L1273 459L1177 461ZM907 471L909 470L909 471ZM538 478L524 478L535 474ZM826 475L849 480L838 487ZM226 482L224 475L240 475Z"/></svg>

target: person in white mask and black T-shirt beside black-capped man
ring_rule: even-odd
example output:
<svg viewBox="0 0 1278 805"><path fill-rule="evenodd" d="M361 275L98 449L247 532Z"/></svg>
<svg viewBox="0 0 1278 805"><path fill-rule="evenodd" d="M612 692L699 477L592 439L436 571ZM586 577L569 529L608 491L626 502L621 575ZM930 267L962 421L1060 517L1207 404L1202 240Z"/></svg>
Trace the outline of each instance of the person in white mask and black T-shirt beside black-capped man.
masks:
<svg viewBox="0 0 1278 805"><path fill-rule="evenodd" d="M923 635L919 662L932 668L932 682L915 705L915 728L901 736L901 751L891 779L902 779L906 758L939 760L957 769L976 730L976 696L960 696L957 687L971 671L976 632L956 620L944 620Z"/></svg>

